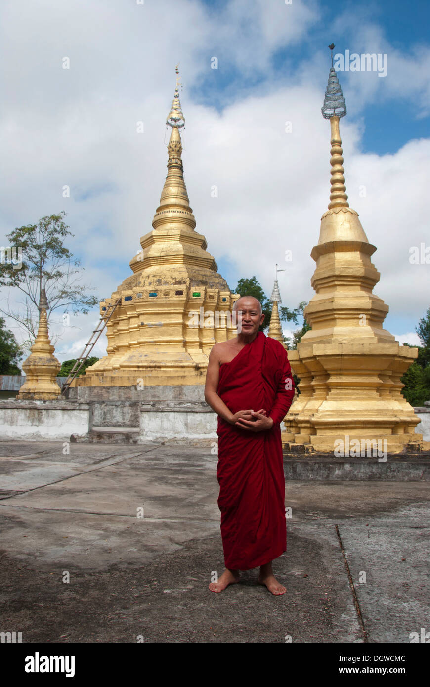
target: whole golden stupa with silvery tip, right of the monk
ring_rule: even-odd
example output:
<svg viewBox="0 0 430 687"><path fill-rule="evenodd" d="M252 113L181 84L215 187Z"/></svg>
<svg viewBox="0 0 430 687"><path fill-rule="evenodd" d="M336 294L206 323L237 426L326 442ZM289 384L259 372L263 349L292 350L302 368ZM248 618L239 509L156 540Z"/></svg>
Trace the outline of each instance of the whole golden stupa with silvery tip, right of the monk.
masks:
<svg viewBox="0 0 430 687"><path fill-rule="evenodd" d="M383 328L388 306L372 293L380 278L370 261L376 247L347 201L339 134L346 105L333 67L321 111L331 128L330 203L311 253L316 294L304 314L312 329L288 351L300 394L283 438L290 448L308 444L317 451L333 451L339 439L346 445L386 440L387 451L396 453L422 441L400 382L418 349L400 346Z"/></svg>

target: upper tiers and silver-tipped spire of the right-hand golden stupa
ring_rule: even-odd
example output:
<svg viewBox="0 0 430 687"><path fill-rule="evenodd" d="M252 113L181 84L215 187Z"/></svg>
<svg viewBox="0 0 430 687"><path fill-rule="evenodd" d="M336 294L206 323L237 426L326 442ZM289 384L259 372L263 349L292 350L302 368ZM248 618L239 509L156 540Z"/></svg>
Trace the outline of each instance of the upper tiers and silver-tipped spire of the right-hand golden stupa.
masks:
<svg viewBox="0 0 430 687"><path fill-rule="evenodd" d="M335 46L328 47L332 51ZM380 277L370 262L376 246L367 240L358 213L346 200L339 136L339 118L346 115L346 104L334 67L330 68L321 113L330 119L331 194L328 210L321 217L318 244L310 254L317 263L310 282L317 293L305 309L311 330L301 343L391 342L394 336L382 327L388 306L372 293Z"/></svg>

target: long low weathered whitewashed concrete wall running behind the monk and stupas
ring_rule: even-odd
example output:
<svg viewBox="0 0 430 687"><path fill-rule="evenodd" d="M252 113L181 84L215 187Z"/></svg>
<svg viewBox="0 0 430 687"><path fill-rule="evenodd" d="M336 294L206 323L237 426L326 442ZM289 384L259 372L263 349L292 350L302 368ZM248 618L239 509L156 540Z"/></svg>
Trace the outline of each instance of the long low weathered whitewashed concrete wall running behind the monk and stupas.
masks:
<svg viewBox="0 0 430 687"><path fill-rule="evenodd" d="M93 389L106 399L93 398ZM0 437L69 440L71 434L86 436L94 426L139 428L139 441L207 443L217 438L217 416L203 400L201 387L82 387L78 391L84 392L76 394L83 397L78 401L0 401ZM85 403L84 398L91 401ZM415 412L421 420L416 431L430 441L430 405Z"/></svg>

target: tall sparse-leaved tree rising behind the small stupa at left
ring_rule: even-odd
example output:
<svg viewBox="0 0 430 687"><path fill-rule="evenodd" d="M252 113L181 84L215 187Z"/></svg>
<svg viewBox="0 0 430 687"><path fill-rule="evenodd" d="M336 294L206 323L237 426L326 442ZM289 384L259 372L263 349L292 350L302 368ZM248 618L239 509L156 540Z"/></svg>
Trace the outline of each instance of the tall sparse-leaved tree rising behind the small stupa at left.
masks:
<svg viewBox="0 0 430 687"><path fill-rule="evenodd" d="M80 261L73 260L73 254L65 246L66 238L73 236L63 221L65 214L63 210L42 217L37 224L16 228L7 235L10 246L22 251L22 264L1 260L0 286L21 291L25 300L19 303L20 308L8 306L8 310L0 308L0 311L25 330L27 339L23 348L30 348L36 338L42 288L49 304L48 320L57 308L63 308L63 313L71 309L73 314L87 314L98 304L98 298L87 293L89 286L80 283L83 269Z"/></svg>

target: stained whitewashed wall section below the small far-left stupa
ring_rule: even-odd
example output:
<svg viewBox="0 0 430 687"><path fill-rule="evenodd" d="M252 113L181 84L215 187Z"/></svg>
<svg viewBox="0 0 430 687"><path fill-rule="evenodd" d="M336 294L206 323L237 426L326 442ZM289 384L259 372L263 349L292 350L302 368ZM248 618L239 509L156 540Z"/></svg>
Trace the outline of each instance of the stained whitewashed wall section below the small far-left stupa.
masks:
<svg viewBox="0 0 430 687"><path fill-rule="evenodd" d="M2 439L70 439L89 431L89 405L76 401L0 401Z"/></svg>

